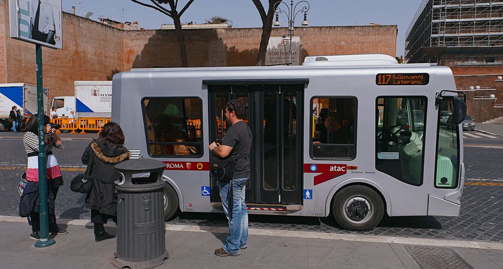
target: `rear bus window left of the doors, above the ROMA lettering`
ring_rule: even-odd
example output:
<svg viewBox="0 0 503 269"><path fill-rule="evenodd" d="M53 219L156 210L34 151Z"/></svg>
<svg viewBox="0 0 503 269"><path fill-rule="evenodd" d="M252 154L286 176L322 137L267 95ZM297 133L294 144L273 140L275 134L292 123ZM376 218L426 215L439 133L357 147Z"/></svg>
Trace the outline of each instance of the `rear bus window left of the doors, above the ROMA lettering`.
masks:
<svg viewBox="0 0 503 269"><path fill-rule="evenodd" d="M141 103L150 156L202 156L200 98L144 98Z"/></svg>

